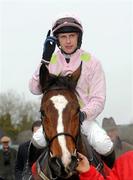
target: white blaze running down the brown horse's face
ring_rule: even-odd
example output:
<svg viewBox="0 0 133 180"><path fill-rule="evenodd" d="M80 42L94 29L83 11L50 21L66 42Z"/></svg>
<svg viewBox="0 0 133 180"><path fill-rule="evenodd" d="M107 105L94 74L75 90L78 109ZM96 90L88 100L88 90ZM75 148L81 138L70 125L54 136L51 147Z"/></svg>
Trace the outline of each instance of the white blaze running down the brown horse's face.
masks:
<svg viewBox="0 0 133 180"><path fill-rule="evenodd" d="M63 112L63 109L68 104L68 101L63 95L53 96L51 98L51 101L53 102L54 107L58 111L57 133L62 133L64 132L62 112ZM58 141L62 150L62 162L64 166L66 167L71 161L71 154L67 149L65 136L63 135L58 136Z"/></svg>

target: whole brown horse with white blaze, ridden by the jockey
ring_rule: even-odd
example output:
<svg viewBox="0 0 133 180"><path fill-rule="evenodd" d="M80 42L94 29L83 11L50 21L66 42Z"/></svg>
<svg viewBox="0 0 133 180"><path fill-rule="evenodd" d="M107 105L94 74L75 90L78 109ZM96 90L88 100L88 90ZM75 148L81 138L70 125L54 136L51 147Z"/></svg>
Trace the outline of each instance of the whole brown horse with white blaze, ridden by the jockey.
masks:
<svg viewBox="0 0 133 180"><path fill-rule="evenodd" d="M88 145L86 148L80 133L80 107L75 87L81 67L71 76L62 77L49 74L45 65L41 66L43 97L40 111L47 147L36 162L36 180L79 179L75 170L78 151L87 155L97 169L103 168L91 148Z"/></svg>

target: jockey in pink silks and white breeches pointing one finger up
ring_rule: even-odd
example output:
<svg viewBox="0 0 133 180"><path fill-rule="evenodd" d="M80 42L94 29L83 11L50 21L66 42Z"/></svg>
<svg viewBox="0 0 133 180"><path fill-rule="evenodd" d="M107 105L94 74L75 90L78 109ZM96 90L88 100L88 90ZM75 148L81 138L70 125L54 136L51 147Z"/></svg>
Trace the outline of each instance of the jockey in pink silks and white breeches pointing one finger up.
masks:
<svg viewBox="0 0 133 180"><path fill-rule="evenodd" d="M87 136L89 144L105 161L114 158L113 143L104 129L96 122L103 111L106 99L105 76L100 62L90 53L81 49L83 26L72 15L58 18L52 26L52 35L48 31L42 54L42 60L29 82L29 89L35 95L41 95L39 70L44 63L49 72L66 76L73 73L82 62L82 71L76 90L81 110L81 130ZM54 53L56 45L58 51ZM46 146L45 132L42 127L33 135L32 143L38 147ZM112 160L112 164L114 159ZM110 166L112 166L112 164Z"/></svg>

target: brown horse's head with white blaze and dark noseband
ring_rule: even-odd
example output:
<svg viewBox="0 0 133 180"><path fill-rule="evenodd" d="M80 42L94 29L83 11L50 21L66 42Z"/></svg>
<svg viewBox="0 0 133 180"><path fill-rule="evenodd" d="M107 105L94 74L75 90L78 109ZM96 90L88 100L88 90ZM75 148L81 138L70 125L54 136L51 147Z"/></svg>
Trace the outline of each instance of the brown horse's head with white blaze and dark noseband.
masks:
<svg viewBox="0 0 133 180"><path fill-rule="evenodd" d="M75 91L81 67L71 76L51 76L47 69L41 102L42 125L49 144L49 166L58 177L71 176L77 166L79 103ZM43 81L43 83L41 82Z"/></svg>

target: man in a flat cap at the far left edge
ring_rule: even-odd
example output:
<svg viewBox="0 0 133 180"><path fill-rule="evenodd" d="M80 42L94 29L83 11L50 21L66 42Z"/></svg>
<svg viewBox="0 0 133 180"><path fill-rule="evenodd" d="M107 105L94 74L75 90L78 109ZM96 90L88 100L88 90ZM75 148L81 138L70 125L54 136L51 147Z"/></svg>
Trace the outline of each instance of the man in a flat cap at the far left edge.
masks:
<svg viewBox="0 0 133 180"><path fill-rule="evenodd" d="M11 139L3 136L0 140L2 149L0 149L0 178L4 180L15 180L15 160L17 151L11 148Z"/></svg>

